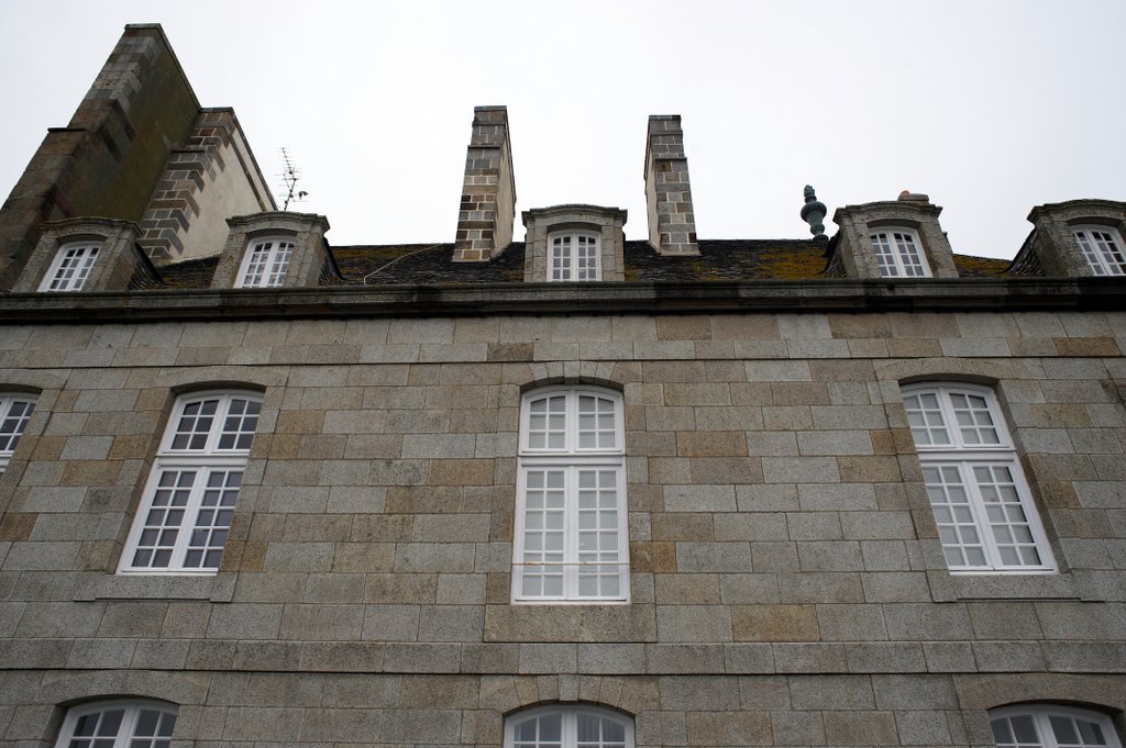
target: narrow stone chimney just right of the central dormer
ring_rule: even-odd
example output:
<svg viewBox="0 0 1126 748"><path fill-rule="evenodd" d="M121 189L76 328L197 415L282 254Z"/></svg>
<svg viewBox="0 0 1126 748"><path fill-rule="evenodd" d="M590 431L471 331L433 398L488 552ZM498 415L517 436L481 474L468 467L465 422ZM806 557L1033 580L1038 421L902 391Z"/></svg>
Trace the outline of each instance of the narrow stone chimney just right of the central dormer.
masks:
<svg viewBox="0 0 1126 748"><path fill-rule="evenodd" d="M661 254L699 254L680 115L650 115L645 139L649 243Z"/></svg>

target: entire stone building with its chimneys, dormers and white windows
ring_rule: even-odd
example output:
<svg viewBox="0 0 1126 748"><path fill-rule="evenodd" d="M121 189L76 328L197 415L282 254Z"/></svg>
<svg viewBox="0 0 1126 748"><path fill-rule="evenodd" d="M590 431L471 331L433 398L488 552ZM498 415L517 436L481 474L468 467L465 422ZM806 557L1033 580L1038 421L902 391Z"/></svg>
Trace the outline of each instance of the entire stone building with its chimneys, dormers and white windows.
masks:
<svg viewBox="0 0 1126 748"><path fill-rule="evenodd" d="M182 81L128 27L96 90L134 48ZM0 745L1121 746L1126 204L1011 264L919 195L698 240L662 116L667 246L495 245L488 107L454 241L329 247L214 130L90 208L41 150L0 211Z"/></svg>

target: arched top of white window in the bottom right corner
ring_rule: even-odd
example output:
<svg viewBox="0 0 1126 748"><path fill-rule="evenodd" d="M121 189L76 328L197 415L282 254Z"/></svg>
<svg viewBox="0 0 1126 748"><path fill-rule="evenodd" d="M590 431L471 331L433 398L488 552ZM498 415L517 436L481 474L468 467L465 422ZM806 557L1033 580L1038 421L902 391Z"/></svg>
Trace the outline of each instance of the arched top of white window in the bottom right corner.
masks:
<svg viewBox="0 0 1126 748"><path fill-rule="evenodd" d="M1054 704L990 711L998 748L1121 748L1106 714Z"/></svg>

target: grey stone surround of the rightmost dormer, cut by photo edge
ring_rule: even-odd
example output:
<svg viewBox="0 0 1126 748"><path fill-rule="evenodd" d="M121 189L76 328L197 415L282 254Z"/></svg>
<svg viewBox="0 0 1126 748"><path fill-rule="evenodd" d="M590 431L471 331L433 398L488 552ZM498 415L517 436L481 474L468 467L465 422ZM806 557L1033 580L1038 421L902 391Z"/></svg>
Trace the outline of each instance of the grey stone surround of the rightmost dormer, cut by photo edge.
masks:
<svg viewBox="0 0 1126 748"><path fill-rule="evenodd" d="M1114 200L1069 200L1038 205L1028 214L1035 226L1013 265L1031 265L1045 276L1094 276L1083 256L1073 226L1106 226L1126 236L1126 202Z"/></svg>

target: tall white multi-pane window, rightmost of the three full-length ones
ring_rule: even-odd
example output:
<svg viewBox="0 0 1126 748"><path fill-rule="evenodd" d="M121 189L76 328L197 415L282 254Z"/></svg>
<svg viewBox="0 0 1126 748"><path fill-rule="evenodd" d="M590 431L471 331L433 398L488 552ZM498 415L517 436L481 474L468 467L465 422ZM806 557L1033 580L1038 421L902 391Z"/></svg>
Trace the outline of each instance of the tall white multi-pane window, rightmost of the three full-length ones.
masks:
<svg viewBox="0 0 1126 748"><path fill-rule="evenodd" d="M903 405L949 568L1051 570L1048 543L992 390L909 387Z"/></svg>

